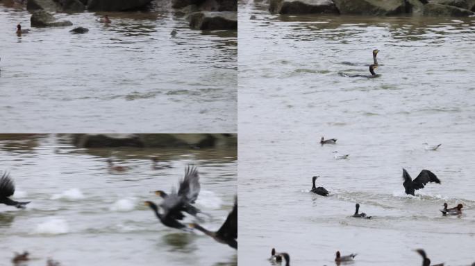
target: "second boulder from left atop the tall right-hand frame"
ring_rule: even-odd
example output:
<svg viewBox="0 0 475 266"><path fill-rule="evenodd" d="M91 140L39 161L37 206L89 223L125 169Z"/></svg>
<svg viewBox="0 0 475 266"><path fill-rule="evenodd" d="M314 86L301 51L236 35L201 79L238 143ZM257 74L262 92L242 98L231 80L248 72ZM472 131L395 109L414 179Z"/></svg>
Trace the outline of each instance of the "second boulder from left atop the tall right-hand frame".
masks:
<svg viewBox="0 0 475 266"><path fill-rule="evenodd" d="M333 0L342 15L398 15L406 12L404 0Z"/></svg>

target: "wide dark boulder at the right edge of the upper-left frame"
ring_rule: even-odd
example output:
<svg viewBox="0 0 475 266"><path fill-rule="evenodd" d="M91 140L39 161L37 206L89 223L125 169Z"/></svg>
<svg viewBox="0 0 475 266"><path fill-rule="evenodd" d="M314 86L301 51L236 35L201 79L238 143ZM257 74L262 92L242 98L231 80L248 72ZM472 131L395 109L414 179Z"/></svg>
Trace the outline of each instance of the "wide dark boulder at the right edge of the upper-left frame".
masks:
<svg viewBox="0 0 475 266"><path fill-rule="evenodd" d="M237 30L238 12L193 12L190 28L199 30Z"/></svg>

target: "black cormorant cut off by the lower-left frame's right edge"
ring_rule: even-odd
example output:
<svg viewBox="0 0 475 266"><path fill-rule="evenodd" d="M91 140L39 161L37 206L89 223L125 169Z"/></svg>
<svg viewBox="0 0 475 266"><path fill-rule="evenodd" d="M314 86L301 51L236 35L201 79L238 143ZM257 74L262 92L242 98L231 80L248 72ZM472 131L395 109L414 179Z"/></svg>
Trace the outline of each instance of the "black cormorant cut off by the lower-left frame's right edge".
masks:
<svg viewBox="0 0 475 266"><path fill-rule="evenodd" d="M208 231L199 224L189 224L191 228L197 229L207 236L214 238L217 242L227 244L233 249L238 249L238 197L234 198L233 211L228 214L228 218L218 231Z"/></svg>

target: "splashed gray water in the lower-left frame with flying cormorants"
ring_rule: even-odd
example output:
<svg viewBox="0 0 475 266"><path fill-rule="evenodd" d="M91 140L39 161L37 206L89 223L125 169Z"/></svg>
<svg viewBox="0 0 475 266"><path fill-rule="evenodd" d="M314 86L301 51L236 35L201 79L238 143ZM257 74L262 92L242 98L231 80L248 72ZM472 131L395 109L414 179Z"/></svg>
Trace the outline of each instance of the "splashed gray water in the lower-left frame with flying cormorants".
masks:
<svg viewBox="0 0 475 266"><path fill-rule="evenodd" d="M237 265L235 249L202 233L160 224L145 200L151 190L169 191L185 166L198 167L197 207L203 227L217 230L233 207L237 190L235 148L79 149L67 135L0 135L1 171L15 180L14 199L27 208L0 206L0 265L29 251L28 266L46 265ZM160 156L153 170L150 157ZM125 172L110 171L112 157ZM193 219L186 218L185 222Z"/></svg>

